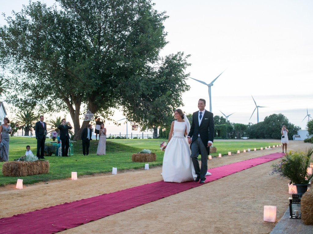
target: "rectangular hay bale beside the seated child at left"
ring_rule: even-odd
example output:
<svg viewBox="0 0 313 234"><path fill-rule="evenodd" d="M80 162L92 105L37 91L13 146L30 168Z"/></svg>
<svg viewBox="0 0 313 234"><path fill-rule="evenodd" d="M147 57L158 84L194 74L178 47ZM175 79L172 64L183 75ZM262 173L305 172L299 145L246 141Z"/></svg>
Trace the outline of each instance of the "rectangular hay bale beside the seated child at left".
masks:
<svg viewBox="0 0 313 234"><path fill-rule="evenodd" d="M5 162L2 165L2 173L4 176L28 176L49 173L48 161L36 162Z"/></svg>

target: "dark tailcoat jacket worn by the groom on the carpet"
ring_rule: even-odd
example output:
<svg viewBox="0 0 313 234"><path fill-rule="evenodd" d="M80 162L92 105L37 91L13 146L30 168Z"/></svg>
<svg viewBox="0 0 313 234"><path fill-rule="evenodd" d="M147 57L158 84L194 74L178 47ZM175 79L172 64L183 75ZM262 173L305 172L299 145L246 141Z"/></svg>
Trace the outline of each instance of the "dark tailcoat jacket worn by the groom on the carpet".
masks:
<svg viewBox="0 0 313 234"><path fill-rule="evenodd" d="M200 126L199 126L198 115L199 115L199 111L196 111L192 114L192 124L191 124L190 132L188 136L192 137L192 142L194 142L198 138L198 135L200 134L200 138L203 144L207 148L208 152L210 152L210 147L207 147L207 146L208 146L208 141L213 142L213 139L214 139L215 127L214 127L213 113L205 110L204 115L202 116L202 121L201 121Z"/></svg>

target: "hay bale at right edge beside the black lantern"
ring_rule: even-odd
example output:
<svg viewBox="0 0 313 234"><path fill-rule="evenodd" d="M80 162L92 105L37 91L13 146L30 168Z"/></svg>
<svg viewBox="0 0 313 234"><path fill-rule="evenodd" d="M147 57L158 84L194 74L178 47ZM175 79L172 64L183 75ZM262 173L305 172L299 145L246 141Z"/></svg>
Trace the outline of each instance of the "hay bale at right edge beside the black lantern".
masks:
<svg viewBox="0 0 313 234"><path fill-rule="evenodd" d="M302 195L301 219L305 225L313 224L313 188Z"/></svg>

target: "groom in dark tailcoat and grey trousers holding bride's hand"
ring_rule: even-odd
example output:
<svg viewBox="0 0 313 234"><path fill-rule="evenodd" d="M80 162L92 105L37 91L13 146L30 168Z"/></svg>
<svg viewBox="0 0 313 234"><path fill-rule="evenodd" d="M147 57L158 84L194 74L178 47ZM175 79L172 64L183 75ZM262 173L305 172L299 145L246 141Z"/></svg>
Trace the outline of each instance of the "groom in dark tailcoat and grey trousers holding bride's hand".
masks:
<svg viewBox="0 0 313 234"><path fill-rule="evenodd" d="M198 108L192 114L192 124L188 134L188 143L191 144L191 159L198 175L195 182L200 180L204 183L205 174L208 171L208 155L210 153L210 146L213 144L214 138L214 119L213 114L204 109L205 100L199 99ZM198 162L198 156L201 154L201 170Z"/></svg>

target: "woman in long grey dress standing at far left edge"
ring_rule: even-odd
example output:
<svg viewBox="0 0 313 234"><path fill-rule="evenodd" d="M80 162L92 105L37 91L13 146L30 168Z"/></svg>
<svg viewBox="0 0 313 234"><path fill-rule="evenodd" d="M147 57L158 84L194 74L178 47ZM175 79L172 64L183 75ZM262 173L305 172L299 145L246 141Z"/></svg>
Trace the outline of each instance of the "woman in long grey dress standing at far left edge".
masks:
<svg viewBox="0 0 313 234"><path fill-rule="evenodd" d="M9 134L11 133L10 120L3 119L4 124L0 125L0 162L9 161Z"/></svg>

